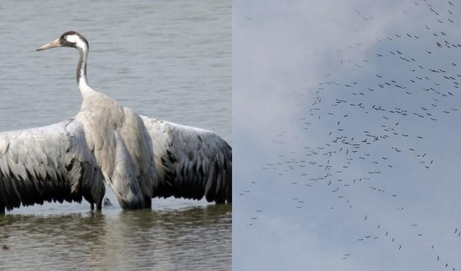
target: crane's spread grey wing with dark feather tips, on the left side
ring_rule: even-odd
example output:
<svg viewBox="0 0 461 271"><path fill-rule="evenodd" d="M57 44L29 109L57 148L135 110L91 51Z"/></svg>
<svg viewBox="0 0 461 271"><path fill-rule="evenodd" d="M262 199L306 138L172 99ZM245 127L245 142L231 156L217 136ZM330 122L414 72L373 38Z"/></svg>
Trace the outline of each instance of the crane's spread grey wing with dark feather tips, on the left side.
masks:
<svg viewBox="0 0 461 271"><path fill-rule="evenodd" d="M74 119L0 133L0 213L44 201L100 202L100 169Z"/></svg>

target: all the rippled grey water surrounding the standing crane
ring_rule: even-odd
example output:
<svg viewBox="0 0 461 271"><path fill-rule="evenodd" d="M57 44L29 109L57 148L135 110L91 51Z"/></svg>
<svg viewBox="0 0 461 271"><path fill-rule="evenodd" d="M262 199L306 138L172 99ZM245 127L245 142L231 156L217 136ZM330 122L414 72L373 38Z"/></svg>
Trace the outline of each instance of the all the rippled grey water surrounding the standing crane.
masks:
<svg viewBox="0 0 461 271"><path fill-rule="evenodd" d="M51 3L51 2L50 2ZM0 131L72 118L78 53L35 49L75 30L89 85L136 112L230 144L231 1L0 2ZM0 270L230 270L232 207L156 199L153 210L29 206L0 217Z"/></svg>

